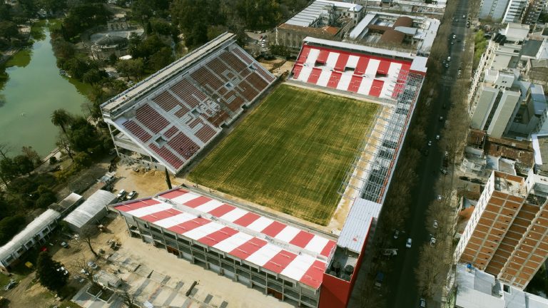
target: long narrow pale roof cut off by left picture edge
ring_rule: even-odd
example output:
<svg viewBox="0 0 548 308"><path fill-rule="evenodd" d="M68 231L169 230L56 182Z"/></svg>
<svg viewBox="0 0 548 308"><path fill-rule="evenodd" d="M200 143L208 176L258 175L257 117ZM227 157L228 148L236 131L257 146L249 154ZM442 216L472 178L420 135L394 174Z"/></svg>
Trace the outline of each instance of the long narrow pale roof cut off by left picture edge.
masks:
<svg viewBox="0 0 548 308"><path fill-rule="evenodd" d="M29 240L44 230L47 225L56 221L60 216L61 214L56 210L46 210L39 217L36 217L21 232L17 233L11 241L0 247L0 260L6 259L6 257L19 250L21 246L29 242Z"/></svg>

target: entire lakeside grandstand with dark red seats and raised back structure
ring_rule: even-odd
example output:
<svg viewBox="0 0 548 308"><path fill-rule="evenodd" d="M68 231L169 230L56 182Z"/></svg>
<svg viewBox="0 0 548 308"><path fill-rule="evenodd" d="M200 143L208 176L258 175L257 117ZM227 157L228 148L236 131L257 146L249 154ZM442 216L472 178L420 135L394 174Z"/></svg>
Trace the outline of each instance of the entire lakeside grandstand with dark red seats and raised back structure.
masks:
<svg viewBox="0 0 548 308"><path fill-rule="evenodd" d="M275 77L221 34L101 105L118 155L178 173Z"/></svg>

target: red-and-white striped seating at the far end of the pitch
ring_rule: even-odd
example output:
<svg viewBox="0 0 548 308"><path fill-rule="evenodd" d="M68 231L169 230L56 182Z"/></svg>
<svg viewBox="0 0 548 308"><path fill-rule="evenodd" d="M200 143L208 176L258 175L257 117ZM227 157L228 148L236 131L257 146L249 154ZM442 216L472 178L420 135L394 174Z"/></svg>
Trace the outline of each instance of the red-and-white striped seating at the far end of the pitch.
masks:
<svg viewBox="0 0 548 308"><path fill-rule="evenodd" d="M293 80L378 98L403 91L411 61L304 44L293 66Z"/></svg>

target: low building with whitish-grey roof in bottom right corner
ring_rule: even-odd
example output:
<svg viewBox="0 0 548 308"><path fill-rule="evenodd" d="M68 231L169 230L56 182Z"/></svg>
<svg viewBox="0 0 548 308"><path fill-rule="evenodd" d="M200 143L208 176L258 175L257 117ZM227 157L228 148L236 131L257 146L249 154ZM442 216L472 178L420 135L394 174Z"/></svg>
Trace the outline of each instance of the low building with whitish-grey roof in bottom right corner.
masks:
<svg viewBox="0 0 548 308"><path fill-rule="evenodd" d="M492 274L457 264L455 308L548 308L548 299L523 292Z"/></svg>

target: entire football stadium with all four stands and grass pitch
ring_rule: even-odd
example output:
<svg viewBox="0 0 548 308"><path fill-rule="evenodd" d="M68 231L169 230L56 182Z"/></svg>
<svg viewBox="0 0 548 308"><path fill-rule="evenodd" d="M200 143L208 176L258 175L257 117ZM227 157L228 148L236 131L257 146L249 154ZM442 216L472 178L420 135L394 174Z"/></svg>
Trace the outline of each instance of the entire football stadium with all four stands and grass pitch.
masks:
<svg viewBox="0 0 548 308"><path fill-rule="evenodd" d="M295 306L346 307L426 60L308 37L274 85L222 34L101 106L121 158L176 174L203 156L198 188L111 209L206 270Z"/></svg>

